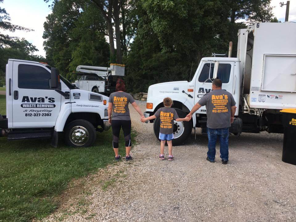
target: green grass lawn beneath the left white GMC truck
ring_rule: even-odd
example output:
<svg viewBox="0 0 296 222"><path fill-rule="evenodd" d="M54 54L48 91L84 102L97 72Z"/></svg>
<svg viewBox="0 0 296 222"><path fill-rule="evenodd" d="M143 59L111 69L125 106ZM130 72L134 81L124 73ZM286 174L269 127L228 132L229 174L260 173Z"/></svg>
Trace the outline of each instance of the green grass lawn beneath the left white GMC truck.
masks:
<svg viewBox="0 0 296 222"><path fill-rule="evenodd" d="M4 96L3 96L4 97ZM5 111L0 96L1 113ZM71 148L60 135L59 146L50 139L7 141L0 138L0 221L28 221L52 212L53 197L79 178L113 162L112 131L97 133L94 146ZM121 133L121 156L125 155Z"/></svg>

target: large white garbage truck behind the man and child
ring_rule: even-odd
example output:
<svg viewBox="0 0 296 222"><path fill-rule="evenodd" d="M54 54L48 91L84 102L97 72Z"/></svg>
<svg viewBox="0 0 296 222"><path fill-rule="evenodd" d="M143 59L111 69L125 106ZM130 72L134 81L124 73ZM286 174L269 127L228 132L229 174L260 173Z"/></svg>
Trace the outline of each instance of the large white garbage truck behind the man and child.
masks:
<svg viewBox="0 0 296 222"><path fill-rule="evenodd" d="M222 80L222 89L236 101L235 121L230 132L283 133L280 110L296 108L296 23L256 23L238 31L237 57L207 57L191 81L165 82L148 89L146 117L173 99L179 117L185 117L205 93L212 79ZM150 121L152 122L152 121ZM191 122L175 122L174 145L182 144L192 127L206 132L206 108L197 110ZM154 121L158 138L159 119Z"/></svg>

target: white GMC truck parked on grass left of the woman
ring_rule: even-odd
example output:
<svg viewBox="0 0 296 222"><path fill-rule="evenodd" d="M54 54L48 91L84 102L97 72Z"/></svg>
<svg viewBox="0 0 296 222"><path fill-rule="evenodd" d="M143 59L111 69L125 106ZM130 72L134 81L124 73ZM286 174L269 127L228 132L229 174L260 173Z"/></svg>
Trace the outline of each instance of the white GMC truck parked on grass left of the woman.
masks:
<svg viewBox="0 0 296 222"><path fill-rule="evenodd" d="M109 130L104 95L78 89L56 68L9 59L6 64L6 115L0 115L0 136L8 140L51 138L58 145L64 131L69 146L91 146L96 131Z"/></svg>

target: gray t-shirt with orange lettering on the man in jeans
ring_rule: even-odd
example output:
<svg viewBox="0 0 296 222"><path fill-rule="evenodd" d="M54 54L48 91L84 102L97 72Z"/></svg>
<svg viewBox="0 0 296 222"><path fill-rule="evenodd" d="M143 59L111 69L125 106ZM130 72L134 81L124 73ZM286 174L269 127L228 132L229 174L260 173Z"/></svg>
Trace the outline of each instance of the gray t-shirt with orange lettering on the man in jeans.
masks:
<svg viewBox="0 0 296 222"><path fill-rule="evenodd" d="M223 89L212 90L205 94L198 103L201 106L206 106L208 128L221 129L231 126L231 107L236 102L230 92Z"/></svg>

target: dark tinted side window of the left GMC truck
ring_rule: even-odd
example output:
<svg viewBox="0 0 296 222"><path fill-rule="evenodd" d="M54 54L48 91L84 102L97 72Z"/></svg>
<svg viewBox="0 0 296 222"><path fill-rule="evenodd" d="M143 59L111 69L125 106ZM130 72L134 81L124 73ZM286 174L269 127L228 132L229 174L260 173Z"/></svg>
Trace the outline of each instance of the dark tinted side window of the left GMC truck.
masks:
<svg viewBox="0 0 296 222"><path fill-rule="evenodd" d="M40 66L20 64L18 67L19 88L50 89L50 78L50 72Z"/></svg>

